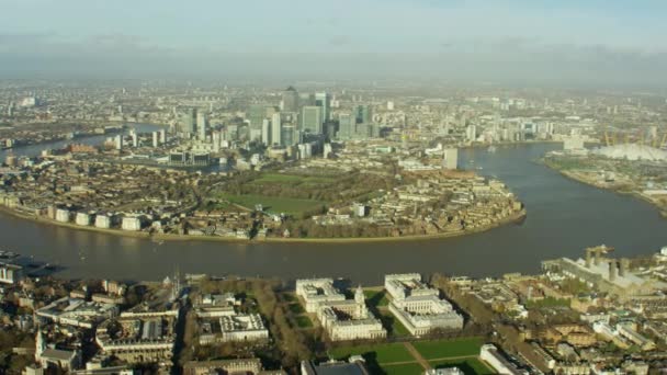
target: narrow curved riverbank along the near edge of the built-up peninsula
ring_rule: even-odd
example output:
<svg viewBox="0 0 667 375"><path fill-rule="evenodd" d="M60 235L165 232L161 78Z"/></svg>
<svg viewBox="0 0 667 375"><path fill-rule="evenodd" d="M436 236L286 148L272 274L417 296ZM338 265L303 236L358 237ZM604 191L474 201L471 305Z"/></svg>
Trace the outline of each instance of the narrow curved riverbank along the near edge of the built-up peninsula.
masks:
<svg viewBox="0 0 667 375"><path fill-rule="evenodd" d="M132 231L121 229L105 229L98 228L94 226L81 226L74 223L56 221L46 217L41 217L34 214L23 213L18 209L0 206L0 213L4 213L21 219L31 220L44 225L54 225L57 227L65 227L75 230L87 230L100 234L106 234L112 236L151 239L154 241L190 241L190 240L203 240L203 241L218 241L218 242L237 242L237 243L364 243L364 242L397 242L397 241L419 241L429 239L442 239L451 237L462 237L466 235L478 234L487 231L504 225L520 223L525 216L525 209L516 212L500 220L494 221L488 225L478 226L473 229L464 229L450 232L441 232L433 235L415 235L415 236L403 236L403 237L347 237L347 238L282 238L282 237L268 237L264 239L242 239L233 237L214 237L214 236L189 236L189 235L171 235L171 234L149 234L147 231Z"/></svg>

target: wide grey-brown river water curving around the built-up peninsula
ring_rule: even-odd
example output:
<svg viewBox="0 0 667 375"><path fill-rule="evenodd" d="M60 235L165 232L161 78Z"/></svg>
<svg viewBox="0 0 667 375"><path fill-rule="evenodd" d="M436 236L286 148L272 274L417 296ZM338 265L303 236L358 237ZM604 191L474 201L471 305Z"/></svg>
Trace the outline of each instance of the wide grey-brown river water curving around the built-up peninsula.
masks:
<svg viewBox="0 0 667 375"><path fill-rule="evenodd" d="M181 273L349 277L380 285L386 273L535 272L544 259L577 257L589 246L606 243L615 247L618 255L636 255L667 245L667 220L649 204L568 180L533 162L561 147L530 144L499 147L495 154L461 150L462 168L505 181L528 211L520 224L470 236L365 243L189 240L158 245L0 214L0 248L58 264L63 270L57 275L63 277L160 280L178 268Z"/></svg>

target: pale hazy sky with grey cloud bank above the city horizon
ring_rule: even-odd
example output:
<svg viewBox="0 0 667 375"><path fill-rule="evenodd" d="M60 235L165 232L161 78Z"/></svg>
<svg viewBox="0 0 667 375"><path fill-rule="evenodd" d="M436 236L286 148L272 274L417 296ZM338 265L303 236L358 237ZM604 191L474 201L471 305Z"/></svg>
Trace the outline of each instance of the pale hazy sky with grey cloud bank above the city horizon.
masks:
<svg viewBox="0 0 667 375"><path fill-rule="evenodd" d="M0 0L0 77L660 86L665 14L660 0Z"/></svg>

